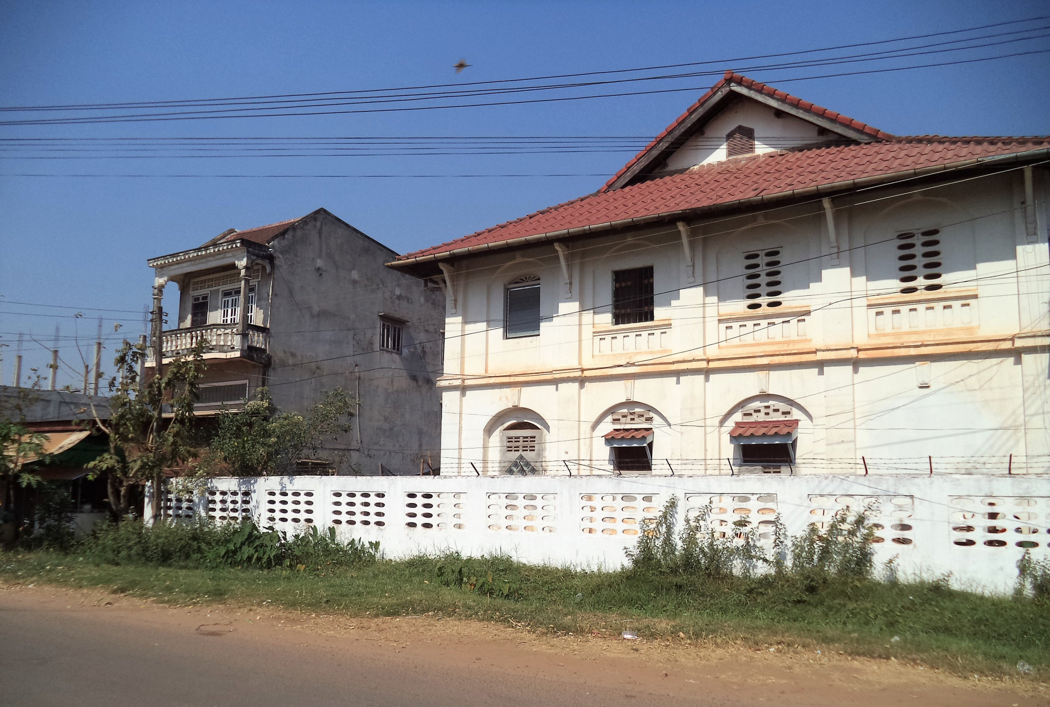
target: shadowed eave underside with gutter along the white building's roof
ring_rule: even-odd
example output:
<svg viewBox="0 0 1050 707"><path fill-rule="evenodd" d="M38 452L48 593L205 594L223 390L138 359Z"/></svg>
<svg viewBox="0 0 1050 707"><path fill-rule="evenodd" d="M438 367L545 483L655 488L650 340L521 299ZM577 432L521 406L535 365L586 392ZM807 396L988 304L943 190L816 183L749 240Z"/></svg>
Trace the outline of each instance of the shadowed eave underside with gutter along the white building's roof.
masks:
<svg viewBox="0 0 1050 707"><path fill-rule="evenodd" d="M796 201L802 201L816 196L823 197L832 194L854 191L862 188L866 189L866 188L879 187L879 186L884 186L891 182L900 182L902 180L934 178L941 173L949 171L954 172L954 171L969 170L969 169L995 169L1001 165L1009 165L1018 162L1022 163L1034 162L1041 158L1046 159L1048 157L1050 157L1050 148L1026 150L1023 152L1013 152L1010 154L996 154L987 158L973 158L969 160L961 160L958 162L944 163L941 165L933 165L930 167L923 167L920 169L905 169L896 172L889 172L886 174L861 176L854 180L844 180L840 182L832 182L828 184L819 184L813 187L805 187L804 189L791 189L788 191L780 191L772 194L761 194L759 196L751 196L748 199L739 199L731 202L722 202L719 204L711 204L690 209L665 211L662 213L647 214L645 216L636 216L633 219L622 219L618 221L610 221L602 224L590 224L587 226L580 226L576 228L568 228L558 231L549 231L546 233L523 235L521 237L508 238L507 241L499 241L496 243L483 243L475 246L466 246L463 248L454 248L452 250L441 251L438 253L430 253L426 255L419 255L417 257L405 257L403 259L398 259L387 263L386 266L390 268L405 270L416 275L417 277L432 277L434 275L440 274L441 270L437 264L442 261L452 261L455 258L483 255L491 252L509 250L513 248L522 248L551 241L565 241L588 235L606 235L610 232L623 228L649 226L662 222L672 222L684 219L699 219L709 215L726 215L728 213L747 212L751 210L758 210L761 209L762 207L770 205L786 206Z"/></svg>

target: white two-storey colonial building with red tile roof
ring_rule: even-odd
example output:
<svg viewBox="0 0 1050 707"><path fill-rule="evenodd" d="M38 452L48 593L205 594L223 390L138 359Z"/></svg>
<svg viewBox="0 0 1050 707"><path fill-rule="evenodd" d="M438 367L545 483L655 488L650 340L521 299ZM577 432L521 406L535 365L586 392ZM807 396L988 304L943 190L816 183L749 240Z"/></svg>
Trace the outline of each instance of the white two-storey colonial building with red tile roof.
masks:
<svg viewBox="0 0 1050 707"><path fill-rule="evenodd" d="M728 72L595 193L391 264L446 294L442 476L1047 473L1048 164Z"/></svg>

